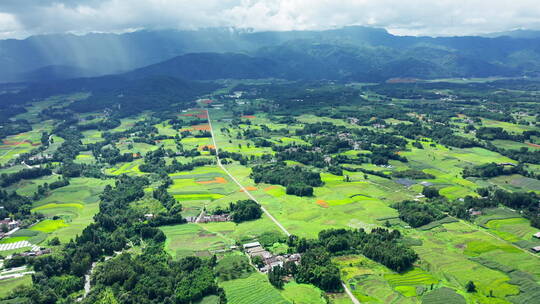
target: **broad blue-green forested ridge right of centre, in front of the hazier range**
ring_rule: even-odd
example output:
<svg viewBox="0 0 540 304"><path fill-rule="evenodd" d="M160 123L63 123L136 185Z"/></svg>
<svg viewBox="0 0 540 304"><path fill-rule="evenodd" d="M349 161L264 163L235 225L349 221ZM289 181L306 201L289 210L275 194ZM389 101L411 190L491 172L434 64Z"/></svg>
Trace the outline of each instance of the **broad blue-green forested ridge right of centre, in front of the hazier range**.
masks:
<svg viewBox="0 0 540 304"><path fill-rule="evenodd" d="M173 76L190 80L282 78L384 82L390 78L512 77L523 73L516 67L430 48L401 54L385 48L354 48L294 41L261 49L253 55L182 55L127 75L135 78Z"/></svg>

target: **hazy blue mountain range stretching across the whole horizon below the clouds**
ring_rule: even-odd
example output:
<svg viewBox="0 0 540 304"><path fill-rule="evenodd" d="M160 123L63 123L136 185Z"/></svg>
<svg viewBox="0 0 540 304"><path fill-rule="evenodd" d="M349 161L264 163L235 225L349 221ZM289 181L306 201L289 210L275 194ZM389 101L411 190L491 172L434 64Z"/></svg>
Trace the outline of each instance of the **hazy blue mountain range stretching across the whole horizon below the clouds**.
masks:
<svg viewBox="0 0 540 304"><path fill-rule="evenodd" d="M230 29L35 36L0 41L0 81L125 73L130 78L383 81L395 77L540 75L540 34L394 36L383 29L249 32Z"/></svg>

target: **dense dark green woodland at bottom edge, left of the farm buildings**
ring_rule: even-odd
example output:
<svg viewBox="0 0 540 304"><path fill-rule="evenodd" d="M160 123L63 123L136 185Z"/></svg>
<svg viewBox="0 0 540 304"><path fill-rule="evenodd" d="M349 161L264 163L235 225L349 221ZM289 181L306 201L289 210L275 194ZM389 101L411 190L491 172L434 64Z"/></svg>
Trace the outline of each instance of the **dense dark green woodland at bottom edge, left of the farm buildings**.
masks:
<svg viewBox="0 0 540 304"><path fill-rule="evenodd" d="M222 293L213 267L210 259L198 257L174 261L159 245L137 256L123 253L96 269L95 287L84 303L93 303L106 290L121 303L192 303Z"/></svg>

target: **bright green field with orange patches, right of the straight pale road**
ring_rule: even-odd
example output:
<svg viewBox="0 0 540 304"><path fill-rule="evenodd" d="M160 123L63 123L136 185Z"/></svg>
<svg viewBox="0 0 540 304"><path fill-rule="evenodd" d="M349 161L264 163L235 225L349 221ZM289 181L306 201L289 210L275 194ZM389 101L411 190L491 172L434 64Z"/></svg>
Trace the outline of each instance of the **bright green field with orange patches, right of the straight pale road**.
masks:
<svg viewBox="0 0 540 304"><path fill-rule="evenodd" d="M227 165L227 169L244 186L256 186L251 194L291 233L300 236L316 237L319 231L329 228L370 229L379 223L379 218L397 216L397 211L388 207L391 201L383 201L394 190L389 191L376 179L373 183L345 183L342 177L323 175L326 185L315 188L314 197L298 197L285 194L281 186L254 185L249 168ZM358 195L368 193L373 197Z"/></svg>

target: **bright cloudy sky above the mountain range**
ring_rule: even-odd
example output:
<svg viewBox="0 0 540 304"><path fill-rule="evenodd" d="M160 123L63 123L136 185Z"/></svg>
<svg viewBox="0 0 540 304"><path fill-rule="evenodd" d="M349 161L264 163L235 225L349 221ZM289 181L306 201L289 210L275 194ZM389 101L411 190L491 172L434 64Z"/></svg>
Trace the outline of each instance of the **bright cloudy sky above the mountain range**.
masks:
<svg viewBox="0 0 540 304"><path fill-rule="evenodd" d="M538 0L0 0L0 39L43 33L384 27L399 35L540 30Z"/></svg>

